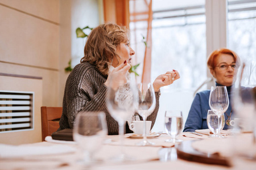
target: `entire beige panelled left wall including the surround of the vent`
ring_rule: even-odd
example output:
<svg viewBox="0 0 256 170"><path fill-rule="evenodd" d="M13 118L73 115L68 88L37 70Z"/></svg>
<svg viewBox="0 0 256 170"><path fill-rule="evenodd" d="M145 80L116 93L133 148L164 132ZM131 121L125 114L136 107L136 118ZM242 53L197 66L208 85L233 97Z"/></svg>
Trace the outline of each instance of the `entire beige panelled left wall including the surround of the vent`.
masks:
<svg viewBox="0 0 256 170"><path fill-rule="evenodd" d="M59 106L59 0L0 0L0 90L35 92L34 130L0 133L0 143L42 141L40 107Z"/></svg>

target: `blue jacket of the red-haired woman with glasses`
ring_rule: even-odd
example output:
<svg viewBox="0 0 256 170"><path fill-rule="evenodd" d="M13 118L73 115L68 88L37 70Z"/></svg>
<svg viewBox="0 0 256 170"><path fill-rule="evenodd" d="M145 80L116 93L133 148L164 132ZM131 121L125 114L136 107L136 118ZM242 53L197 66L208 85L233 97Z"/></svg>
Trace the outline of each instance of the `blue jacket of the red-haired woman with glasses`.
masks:
<svg viewBox="0 0 256 170"><path fill-rule="evenodd" d="M217 84L216 86L221 86L221 84ZM228 96L229 96L229 107L228 110L225 112L230 115L230 112L232 111L232 107L230 104L230 91L231 86L227 87L228 90ZM207 113L208 110L210 110L209 107L209 96L210 96L210 90L201 91L196 94L195 99L193 100L193 103L191 105L190 111L188 113L188 118L185 123L185 127L183 131L195 131L196 129L208 129L207 126ZM228 116L224 113L225 120L228 119ZM231 118L233 117L233 113L231 114ZM233 119L233 118L232 118ZM230 126L226 125L224 126L224 129L229 129Z"/></svg>

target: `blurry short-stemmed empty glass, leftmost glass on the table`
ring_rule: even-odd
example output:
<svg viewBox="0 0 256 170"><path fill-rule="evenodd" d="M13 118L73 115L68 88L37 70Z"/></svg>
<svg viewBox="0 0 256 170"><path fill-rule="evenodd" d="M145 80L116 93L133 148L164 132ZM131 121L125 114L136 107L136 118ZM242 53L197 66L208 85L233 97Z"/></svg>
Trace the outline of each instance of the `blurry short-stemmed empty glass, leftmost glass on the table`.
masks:
<svg viewBox="0 0 256 170"><path fill-rule="evenodd" d="M93 154L101 147L108 133L105 113L79 112L75 119L73 138L82 150L79 163L90 165L99 162Z"/></svg>

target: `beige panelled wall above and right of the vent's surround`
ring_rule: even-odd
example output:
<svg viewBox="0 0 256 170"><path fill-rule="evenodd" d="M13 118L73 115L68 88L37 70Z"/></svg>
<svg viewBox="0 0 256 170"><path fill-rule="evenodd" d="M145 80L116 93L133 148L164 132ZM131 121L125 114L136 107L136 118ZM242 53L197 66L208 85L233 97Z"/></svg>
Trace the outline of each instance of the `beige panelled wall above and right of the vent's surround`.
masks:
<svg viewBox="0 0 256 170"><path fill-rule="evenodd" d="M41 76L42 105L59 106L59 0L0 0L0 22L0 73Z"/></svg>

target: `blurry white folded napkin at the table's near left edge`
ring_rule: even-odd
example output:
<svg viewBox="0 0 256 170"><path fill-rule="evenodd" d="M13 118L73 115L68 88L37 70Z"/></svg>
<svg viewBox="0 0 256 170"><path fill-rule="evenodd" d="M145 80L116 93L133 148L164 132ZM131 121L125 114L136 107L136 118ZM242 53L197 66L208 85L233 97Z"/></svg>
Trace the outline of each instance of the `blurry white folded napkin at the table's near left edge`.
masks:
<svg viewBox="0 0 256 170"><path fill-rule="evenodd" d="M76 149L65 145L32 146L0 144L0 158L16 158L31 155L64 154L75 152Z"/></svg>

